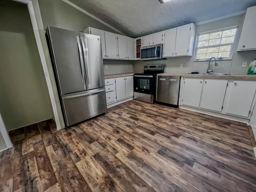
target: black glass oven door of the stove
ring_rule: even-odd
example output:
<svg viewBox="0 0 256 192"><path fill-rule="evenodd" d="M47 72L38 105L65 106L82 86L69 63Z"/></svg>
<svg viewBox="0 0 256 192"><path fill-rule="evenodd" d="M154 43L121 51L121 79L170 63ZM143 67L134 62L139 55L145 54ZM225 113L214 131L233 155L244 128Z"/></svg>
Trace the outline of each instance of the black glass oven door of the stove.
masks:
<svg viewBox="0 0 256 192"><path fill-rule="evenodd" d="M153 75L134 75L134 92L154 95L155 78Z"/></svg>

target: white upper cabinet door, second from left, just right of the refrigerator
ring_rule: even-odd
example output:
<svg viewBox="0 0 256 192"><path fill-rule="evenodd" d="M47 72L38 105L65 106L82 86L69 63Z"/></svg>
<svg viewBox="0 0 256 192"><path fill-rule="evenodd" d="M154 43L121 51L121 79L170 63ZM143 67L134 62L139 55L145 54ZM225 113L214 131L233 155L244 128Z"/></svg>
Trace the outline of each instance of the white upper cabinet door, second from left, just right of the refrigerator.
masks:
<svg viewBox="0 0 256 192"><path fill-rule="evenodd" d="M116 34L105 31L106 58L117 59Z"/></svg>

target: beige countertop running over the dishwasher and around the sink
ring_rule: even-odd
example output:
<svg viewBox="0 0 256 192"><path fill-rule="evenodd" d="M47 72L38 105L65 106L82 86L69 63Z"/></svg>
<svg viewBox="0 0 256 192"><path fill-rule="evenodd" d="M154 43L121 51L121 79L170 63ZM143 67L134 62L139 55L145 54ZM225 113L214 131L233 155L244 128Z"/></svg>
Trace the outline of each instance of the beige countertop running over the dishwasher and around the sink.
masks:
<svg viewBox="0 0 256 192"><path fill-rule="evenodd" d="M248 74L230 74L230 75L205 75L205 74L177 74L177 73L159 73L157 76L181 76L192 78L212 78L212 79L236 79L236 80L254 80L256 81L256 75Z"/></svg>

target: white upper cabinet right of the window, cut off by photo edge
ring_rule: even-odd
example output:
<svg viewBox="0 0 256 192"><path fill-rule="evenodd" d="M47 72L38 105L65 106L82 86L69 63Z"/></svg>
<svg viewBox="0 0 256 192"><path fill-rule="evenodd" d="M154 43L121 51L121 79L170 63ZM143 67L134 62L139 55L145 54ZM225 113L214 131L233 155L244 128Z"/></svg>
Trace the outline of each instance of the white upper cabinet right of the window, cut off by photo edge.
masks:
<svg viewBox="0 0 256 192"><path fill-rule="evenodd" d="M256 50L256 6L247 8L238 51Z"/></svg>

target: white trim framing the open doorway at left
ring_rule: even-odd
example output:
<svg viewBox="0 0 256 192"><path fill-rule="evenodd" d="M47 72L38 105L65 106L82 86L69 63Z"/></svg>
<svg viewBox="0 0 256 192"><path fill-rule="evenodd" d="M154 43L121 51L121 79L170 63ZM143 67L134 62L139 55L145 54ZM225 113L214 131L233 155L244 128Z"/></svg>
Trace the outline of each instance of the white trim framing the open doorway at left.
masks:
<svg viewBox="0 0 256 192"><path fill-rule="evenodd" d="M56 102L55 102L55 99L54 99L54 93L53 93L53 89L52 89L52 85L51 85L49 71L48 71L48 67L47 67L47 64L46 64L46 58L45 58L45 55L44 55L44 50L43 50L43 46L42 46L42 42L41 42L41 38L40 38L40 33L39 33L39 30L38 30L38 23L37 23L37 20L36 20L36 14L35 14L33 3L32 3L32 1L33 1L36 5L38 5L38 0L14 0L14 1L17 1L17 2L24 3L24 4L28 5L28 11L29 11L29 14L30 14L30 19L31 19L34 35L35 35L35 38L36 38L36 45L38 47L38 52L39 52L40 60L41 60L42 67L43 67L43 70L44 70L44 76L45 76L45 79L46 79L46 84L47 84L47 87L48 87L50 100L52 102L52 110L53 110L53 113L54 113L56 127L59 130L61 128L60 127L60 119L59 119L59 116L58 116L58 111L57 111L57 106L56 106ZM41 15L37 14L37 18L40 22L39 24L42 26ZM0 132L3 136L3 138L4 138L4 142L6 143L7 148L11 148L13 145L12 145L12 142L11 142L10 137L8 135L8 132L6 130L6 127L4 125L4 121L2 119L1 114L0 114Z"/></svg>

